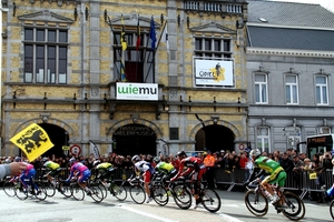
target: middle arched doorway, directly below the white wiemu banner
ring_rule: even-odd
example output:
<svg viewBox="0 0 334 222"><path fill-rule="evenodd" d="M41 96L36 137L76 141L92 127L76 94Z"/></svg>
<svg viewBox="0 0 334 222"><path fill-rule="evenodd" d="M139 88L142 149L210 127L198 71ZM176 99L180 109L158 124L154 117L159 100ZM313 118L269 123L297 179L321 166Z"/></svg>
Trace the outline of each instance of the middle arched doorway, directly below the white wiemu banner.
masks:
<svg viewBox="0 0 334 222"><path fill-rule="evenodd" d="M143 124L134 123L118 128L112 134L112 151L117 154L157 154L157 135L155 131Z"/></svg>

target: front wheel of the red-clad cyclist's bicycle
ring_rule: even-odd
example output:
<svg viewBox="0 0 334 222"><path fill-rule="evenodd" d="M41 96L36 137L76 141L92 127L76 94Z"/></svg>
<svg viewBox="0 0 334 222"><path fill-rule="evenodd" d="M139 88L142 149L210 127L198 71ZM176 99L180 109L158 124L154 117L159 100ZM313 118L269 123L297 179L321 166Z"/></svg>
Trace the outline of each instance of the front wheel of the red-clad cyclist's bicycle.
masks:
<svg viewBox="0 0 334 222"><path fill-rule="evenodd" d="M175 185L171 192L174 201L176 205L178 205L178 208L186 210L191 206L193 196L190 191L186 186Z"/></svg>

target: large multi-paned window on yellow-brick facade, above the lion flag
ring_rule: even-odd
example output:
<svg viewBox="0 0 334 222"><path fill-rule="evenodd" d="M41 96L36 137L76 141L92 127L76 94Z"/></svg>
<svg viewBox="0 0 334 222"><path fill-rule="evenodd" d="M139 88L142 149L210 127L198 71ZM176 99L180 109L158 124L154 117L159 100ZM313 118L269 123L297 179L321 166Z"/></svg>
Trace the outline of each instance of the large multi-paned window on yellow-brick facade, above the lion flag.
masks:
<svg viewBox="0 0 334 222"><path fill-rule="evenodd" d="M24 29L24 82L67 83L68 31Z"/></svg>

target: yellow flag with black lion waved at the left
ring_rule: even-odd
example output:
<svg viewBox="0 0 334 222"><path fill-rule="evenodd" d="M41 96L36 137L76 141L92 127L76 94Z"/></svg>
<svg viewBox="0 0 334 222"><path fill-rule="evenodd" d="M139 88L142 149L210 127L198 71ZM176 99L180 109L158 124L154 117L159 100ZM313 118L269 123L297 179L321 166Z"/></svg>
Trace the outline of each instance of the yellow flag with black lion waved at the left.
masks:
<svg viewBox="0 0 334 222"><path fill-rule="evenodd" d="M10 141L26 153L30 162L53 147L48 133L36 123L12 137Z"/></svg>

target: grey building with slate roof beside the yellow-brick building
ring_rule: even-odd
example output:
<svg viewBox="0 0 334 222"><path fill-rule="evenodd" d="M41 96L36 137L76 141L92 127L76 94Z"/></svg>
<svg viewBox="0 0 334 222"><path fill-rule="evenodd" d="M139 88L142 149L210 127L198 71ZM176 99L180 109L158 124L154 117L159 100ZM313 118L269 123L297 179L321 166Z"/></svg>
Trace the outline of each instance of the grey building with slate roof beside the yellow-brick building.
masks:
<svg viewBox="0 0 334 222"><path fill-rule="evenodd" d="M248 1L252 148L285 151L308 135L332 132L333 21L334 13L320 4Z"/></svg>

